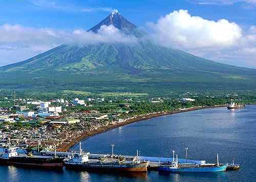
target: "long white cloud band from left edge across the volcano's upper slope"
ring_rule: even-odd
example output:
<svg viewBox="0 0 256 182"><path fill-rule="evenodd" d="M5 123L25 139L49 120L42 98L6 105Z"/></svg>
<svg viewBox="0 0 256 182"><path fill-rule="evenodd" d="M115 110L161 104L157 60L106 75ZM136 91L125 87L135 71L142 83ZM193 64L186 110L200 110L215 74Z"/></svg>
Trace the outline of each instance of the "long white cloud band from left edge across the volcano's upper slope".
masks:
<svg viewBox="0 0 256 182"><path fill-rule="evenodd" d="M137 41L135 36L123 34L112 25L101 26L98 33L94 33L84 30L67 32L5 24L0 26L0 66L25 60L60 44L134 44Z"/></svg>

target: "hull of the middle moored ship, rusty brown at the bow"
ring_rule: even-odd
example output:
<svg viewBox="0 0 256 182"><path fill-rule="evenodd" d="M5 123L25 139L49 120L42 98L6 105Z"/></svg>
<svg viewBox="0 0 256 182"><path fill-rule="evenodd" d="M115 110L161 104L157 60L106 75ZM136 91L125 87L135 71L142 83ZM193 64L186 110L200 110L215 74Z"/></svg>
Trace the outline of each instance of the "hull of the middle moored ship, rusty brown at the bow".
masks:
<svg viewBox="0 0 256 182"><path fill-rule="evenodd" d="M65 164L67 168L85 169L85 170L101 170L101 171L123 171L123 172L146 172L147 163L126 166L126 165L88 165L88 164Z"/></svg>

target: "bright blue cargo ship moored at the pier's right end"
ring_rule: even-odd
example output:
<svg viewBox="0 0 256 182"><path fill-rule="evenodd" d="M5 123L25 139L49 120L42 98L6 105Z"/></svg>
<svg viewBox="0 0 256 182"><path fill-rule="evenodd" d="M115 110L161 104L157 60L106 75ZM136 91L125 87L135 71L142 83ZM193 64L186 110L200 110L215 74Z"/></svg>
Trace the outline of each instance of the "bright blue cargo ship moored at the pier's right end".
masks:
<svg viewBox="0 0 256 182"><path fill-rule="evenodd" d="M160 164L159 171L165 172L221 172L226 171L228 164L219 164L219 156L217 154L217 164L179 164L178 156L176 161Z"/></svg>

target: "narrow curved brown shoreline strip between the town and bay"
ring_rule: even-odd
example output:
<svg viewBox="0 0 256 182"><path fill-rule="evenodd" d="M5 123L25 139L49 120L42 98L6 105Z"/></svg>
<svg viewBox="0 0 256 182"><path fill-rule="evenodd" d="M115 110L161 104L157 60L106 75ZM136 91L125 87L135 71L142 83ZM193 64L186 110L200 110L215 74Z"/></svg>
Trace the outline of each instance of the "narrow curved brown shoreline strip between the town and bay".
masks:
<svg viewBox="0 0 256 182"><path fill-rule="evenodd" d="M117 128L117 127L120 127L120 126L125 126L125 125L128 125L128 124L136 123L138 121L143 121L143 120L147 120L147 119L157 118L157 117L160 117L160 116L174 115L176 113L181 113L181 112L188 112L188 111L193 111L193 110L216 108L216 107L226 107L226 105L193 107L193 108L188 108L188 109L183 109L183 110L174 110L174 111L170 111L170 112L160 112L160 113L142 115L142 116L139 116L137 118L133 118L133 119L121 122L121 123L114 124L114 125L108 125L106 127L99 128L99 129L94 130L94 131L83 132L78 137L74 138L70 143L62 143L61 147L58 148L58 151L62 151L62 152L68 151L70 148L74 147L78 142L80 142L82 140L86 140L90 137L93 137L96 134L99 134L99 133L102 133L102 132L105 132L105 131L109 131L111 129L114 129L114 128Z"/></svg>

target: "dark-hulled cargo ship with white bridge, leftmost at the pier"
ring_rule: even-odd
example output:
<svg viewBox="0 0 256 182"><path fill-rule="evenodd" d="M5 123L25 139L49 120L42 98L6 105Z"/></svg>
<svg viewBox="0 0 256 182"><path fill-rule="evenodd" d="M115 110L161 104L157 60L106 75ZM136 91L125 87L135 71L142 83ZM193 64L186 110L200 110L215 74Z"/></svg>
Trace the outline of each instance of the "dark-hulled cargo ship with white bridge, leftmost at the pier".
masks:
<svg viewBox="0 0 256 182"><path fill-rule="evenodd" d="M18 154L17 147L2 148L0 164L22 167L62 168L63 159L54 156Z"/></svg>

